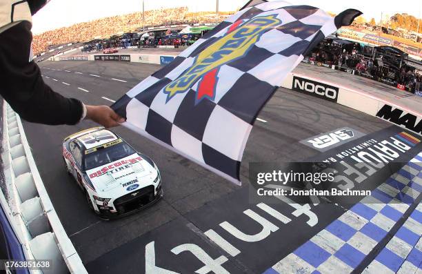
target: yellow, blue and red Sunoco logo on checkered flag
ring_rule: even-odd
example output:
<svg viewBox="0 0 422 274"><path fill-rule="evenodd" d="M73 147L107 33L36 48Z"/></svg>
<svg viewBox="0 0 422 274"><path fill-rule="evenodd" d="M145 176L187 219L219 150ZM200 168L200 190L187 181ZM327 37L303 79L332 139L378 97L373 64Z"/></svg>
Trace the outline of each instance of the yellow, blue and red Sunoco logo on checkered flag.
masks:
<svg viewBox="0 0 422 274"><path fill-rule="evenodd" d="M196 104L204 98L213 101L219 68L247 55L265 32L280 24L281 20L277 18L277 14L234 22L223 37L199 53L188 70L165 86L163 92L167 95L167 101L174 95L188 92L198 81Z"/></svg>

